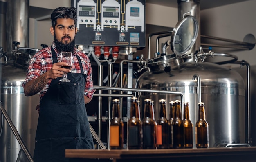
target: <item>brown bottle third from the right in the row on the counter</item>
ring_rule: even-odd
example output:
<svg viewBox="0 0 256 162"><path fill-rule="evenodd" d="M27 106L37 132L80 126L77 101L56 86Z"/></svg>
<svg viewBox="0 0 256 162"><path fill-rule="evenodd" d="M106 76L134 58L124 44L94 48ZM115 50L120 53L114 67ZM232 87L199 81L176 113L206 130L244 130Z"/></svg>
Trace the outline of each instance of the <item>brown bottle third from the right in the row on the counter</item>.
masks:
<svg viewBox="0 0 256 162"><path fill-rule="evenodd" d="M175 100L175 116L173 119L173 148L184 148L184 125L181 118L180 101Z"/></svg>

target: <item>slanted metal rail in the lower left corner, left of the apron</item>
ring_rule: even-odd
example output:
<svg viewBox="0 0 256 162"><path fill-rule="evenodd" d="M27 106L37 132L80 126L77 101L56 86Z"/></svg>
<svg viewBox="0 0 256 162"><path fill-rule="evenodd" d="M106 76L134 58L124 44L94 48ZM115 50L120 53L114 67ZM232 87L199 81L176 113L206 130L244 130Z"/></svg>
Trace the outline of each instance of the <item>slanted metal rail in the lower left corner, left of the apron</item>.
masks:
<svg viewBox="0 0 256 162"><path fill-rule="evenodd" d="M25 143L23 142L22 138L20 137L19 132L17 131L15 125L12 123L11 118L9 117L8 113L4 109L4 106L2 105L1 101L0 101L0 104L1 104L0 105L0 110L2 111L2 114L4 115L4 118L6 119L7 123L11 127L11 130L13 131L14 136L18 140L18 142L20 144L20 147L23 149L25 155L27 156L27 159L29 160L29 162L34 162L34 160L33 160L32 156L30 155Z"/></svg>

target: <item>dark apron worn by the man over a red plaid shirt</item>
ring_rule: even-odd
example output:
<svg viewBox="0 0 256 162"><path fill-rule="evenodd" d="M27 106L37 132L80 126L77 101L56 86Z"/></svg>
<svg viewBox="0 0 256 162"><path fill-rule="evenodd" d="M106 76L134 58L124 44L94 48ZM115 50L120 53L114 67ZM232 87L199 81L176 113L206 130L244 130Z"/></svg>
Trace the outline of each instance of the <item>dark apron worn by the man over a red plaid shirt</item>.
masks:
<svg viewBox="0 0 256 162"><path fill-rule="evenodd" d="M57 56L53 48L53 63ZM71 82L52 79L40 101L36 130L35 162L68 162L65 149L94 149L84 103L86 75L79 56L81 73L68 73Z"/></svg>

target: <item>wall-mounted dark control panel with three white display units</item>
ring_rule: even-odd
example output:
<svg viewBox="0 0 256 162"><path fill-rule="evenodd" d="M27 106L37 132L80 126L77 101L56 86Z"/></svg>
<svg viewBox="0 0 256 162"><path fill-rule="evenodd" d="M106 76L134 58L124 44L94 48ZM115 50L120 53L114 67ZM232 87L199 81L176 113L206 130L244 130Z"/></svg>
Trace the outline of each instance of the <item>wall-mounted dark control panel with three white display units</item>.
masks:
<svg viewBox="0 0 256 162"><path fill-rule="evenodd" d="M78 13L76 44L145 47L146 0L72 0Z"/></svg>

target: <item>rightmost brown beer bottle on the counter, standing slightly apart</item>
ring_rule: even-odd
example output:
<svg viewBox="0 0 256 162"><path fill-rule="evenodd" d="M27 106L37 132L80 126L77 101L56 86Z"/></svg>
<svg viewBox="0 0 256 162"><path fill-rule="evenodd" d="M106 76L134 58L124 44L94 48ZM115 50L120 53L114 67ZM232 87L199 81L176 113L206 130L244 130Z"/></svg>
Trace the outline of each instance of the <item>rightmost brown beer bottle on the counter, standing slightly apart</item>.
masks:
<svg viewBox="0 0 256 162"><path fill-rule="evenodd" d="M209 125L205 120L204 103L198 103L198 121L195 124L196 147L209 147Z"/></svg>

